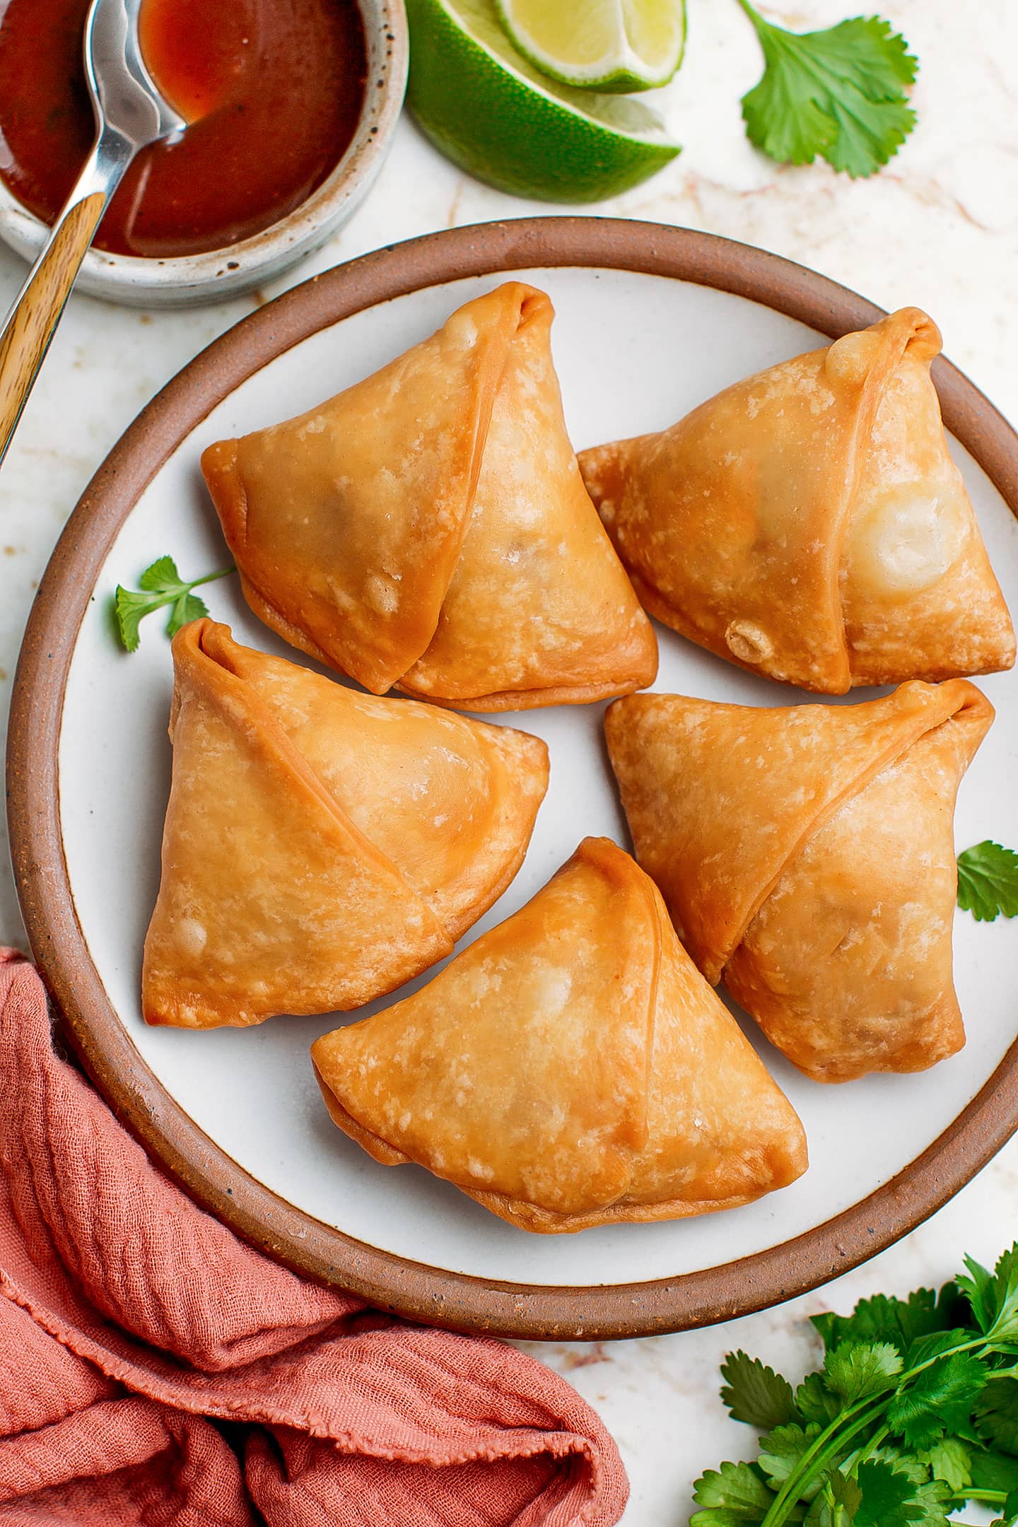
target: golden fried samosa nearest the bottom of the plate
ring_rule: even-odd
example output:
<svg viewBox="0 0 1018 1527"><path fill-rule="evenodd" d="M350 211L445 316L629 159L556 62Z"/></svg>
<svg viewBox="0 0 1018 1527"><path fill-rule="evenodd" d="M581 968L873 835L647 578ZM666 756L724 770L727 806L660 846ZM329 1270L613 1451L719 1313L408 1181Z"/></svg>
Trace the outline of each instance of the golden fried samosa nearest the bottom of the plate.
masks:
<svg viewBox="0 0 1018 1527"><path fill-rule="evenodd" d="M705 1214L806 1170L792 1106L607 838L311 1057L375 1161L418 1162L528 1231Z"/></svg>

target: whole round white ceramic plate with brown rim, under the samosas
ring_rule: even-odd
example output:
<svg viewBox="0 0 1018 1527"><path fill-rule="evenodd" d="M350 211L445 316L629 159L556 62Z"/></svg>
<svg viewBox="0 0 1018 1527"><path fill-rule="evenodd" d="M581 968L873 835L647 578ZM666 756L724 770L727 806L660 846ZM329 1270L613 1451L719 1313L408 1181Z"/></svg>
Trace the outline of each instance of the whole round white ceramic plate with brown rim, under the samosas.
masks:
<svg viewBox="0 0 1018 1527"><path fill-rule="evenodd" d="M528 1235L417 1167L377 1165L333 1127L308 1046L382 1003L214 1032L148 1029L139 1008L169 789L171 658L157 620L145 623L136 655L118 649L110 596L162 553L186 574L227 560L198 472L203 446L366 376L504 270L552 296L577 447L667 426L726 383L876 316L861 298L759 250L585 218L440 234L296 289L150 405L69 522L18 670L11 835L32 947L73 1043L113 1107L198 1200L292 1266L412 1316L519 1336L638 1335L728 1318L821 1283L933 1212L1000 1148L1018 1122L1013 924L957 916L969 1038L922 1075L821 1087L739 1015L806 1125L806 1176L746 1208L578 1235ZM952 368L940 366L939 385L952 452L1015 608L1018 440ZM307 661L250 615L235 580L203 592L241 641ZM658 640L659 690L757 705L806 699L670 631L658 628ZM998 719L962 785L960 847L991 835L1018 843L1009 785L1018 777L1018 676L980 683ZM586 834L627 844L603 709L485 718L546 739L551 788L523 867L461 948L520 907Z"/></svg>

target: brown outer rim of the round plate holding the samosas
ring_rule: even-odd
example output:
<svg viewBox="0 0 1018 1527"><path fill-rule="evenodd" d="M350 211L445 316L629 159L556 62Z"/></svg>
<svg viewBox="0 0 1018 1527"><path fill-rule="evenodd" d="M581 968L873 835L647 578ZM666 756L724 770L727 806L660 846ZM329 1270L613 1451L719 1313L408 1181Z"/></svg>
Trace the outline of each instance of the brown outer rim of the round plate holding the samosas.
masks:
<svg viewBox="0 0 1018 1527"><path fill-rule="evenodd" d="M549 266L635 270L716 287L832 339L882 312L826 276L746 244L594 217L458 228L313 276L185 366L82 493L46 568L18 658L8 817L32 953L69 1038L122 1122L200 1205L296 1272L350 1289L377 1309L455 1330L565 1341L649 1336L733 1319L815 1289L890 1246L946 1203L1018 1127L1018 1041L957 1119L896 1177L804 1235L740 1261L595 1287L531 1287L423 1266L343 1235L270 1193L150 1072L110 1006L78 925L58 799L61 712L78 628L114 536L188 432L252 373L339 319L421 287ZM952 365L937 360L934 374L948 429L1018 515L1018 435Z"/></svg>

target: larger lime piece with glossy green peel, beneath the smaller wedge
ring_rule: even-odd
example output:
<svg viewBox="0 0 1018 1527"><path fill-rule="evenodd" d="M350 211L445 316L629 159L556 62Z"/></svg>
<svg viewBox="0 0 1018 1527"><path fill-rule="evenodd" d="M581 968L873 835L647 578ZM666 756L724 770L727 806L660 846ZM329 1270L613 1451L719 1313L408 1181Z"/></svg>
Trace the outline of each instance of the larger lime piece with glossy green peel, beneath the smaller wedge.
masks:
<svg viewBox="0 0 1018 1527"><path fill-rule="evenodd" d="M639 101L543 78L510 43L495 0L406 0L408 102L469 174L543 202L600 202L679 153Z"/></svg>

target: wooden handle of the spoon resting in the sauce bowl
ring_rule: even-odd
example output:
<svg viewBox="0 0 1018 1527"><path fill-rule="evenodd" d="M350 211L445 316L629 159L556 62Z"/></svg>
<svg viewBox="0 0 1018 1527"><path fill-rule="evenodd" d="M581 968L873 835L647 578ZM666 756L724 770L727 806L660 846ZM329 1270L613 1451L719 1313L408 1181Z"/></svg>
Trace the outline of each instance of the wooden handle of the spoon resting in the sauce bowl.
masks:
<svg viewBox="0 0 1018 1527"><path fill-rule="evenodd" d="M21 296L0 334L0 461L3 461L14 426L21 417L24 400L64 302L70 296L78 267L85 257L107 203L105 191L76 202L58 223L50 243L37 261Z"/></svg>

